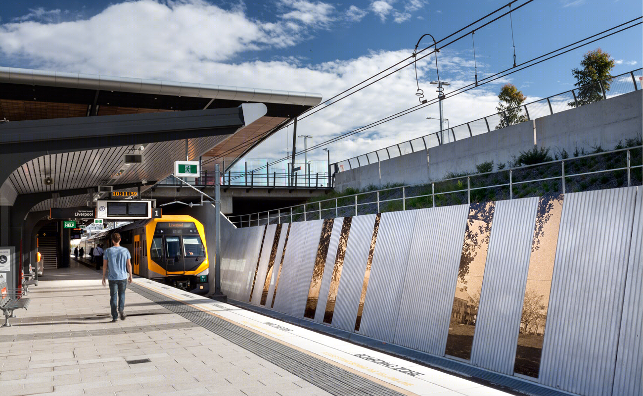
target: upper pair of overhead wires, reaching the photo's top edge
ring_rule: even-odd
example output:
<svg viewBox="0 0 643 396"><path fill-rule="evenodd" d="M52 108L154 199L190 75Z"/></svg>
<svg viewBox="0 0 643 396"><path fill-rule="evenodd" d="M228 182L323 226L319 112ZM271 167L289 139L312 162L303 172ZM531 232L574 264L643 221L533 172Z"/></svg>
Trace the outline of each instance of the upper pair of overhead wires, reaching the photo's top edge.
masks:
<svg viewBox="0 0 643 396"><path fill-rule="evenodd" d="M467 28L470 28L471 26L473 26L473 25L475 25L475 24L479 23L480 21L484 21L484 19L487 19L487 18L488 18L488 17L490 17L491 15L496 14L497 12L500 12L500 11L501 11L501 10L503 10L505 7L507 7L507 6L509 6L509 5L512 5L513 3L516 3L517 1L518 1L518 0L511 1L508 5L504 5L504 6L500 7L500 8L497 8L497 9L496 9L496 10L494 10L493 12L490 12L489 14L484 15L484 17L481 17L481 18L479 18L479 19L476 19L476 21L474 21L474 22L472 22L472 23L467 24L467 26L464 26L463 28L460 28L460 29L458 29L457 31L455 31L455 32L453 32L453 33L449 34L448 36L444 37L443 39L440 39L439 41L435 42L435 43L433 44L433 46L437 46L437 44L439 44L440 42L443 42L443 41L445 41L445 40L449 39L450 37L453 37L454 35L457 35L458 33L462 32L463 30L466 30ZM514 11L518 10L519 8L521 8L521 7L525 6L525 5L528 5L528 4L529 4L529 3L531 3L532 1L534 1L534 0L528 0L528 1L526 1L525 3L523 3L523 4L521 4L520 6L518 6L517 8L515 8L515 9L514 9ZM463 37L466 37L467 35L469 35L469 33L473 33L473 32L475 32L476 30L480 30L481 28L484 28L485 26L487 26L487 25L489 25L489 24L491 24L491 23L493 23L493 22L497 21L498 19L500 19L500 18L504 17L504 16L505 16L505 15L507 15L507 14L509 14L509 12L505 12L505 14L499 15L498 17L496 17L496 18L492 19L491 21L488 21L487 23L482 24L482 26L478 26L477 28L475 28L475 29L471 30L470 32L467 32L466 34L461 35L460 37L457 37L457 39L454 39L453 41L450 41L450 42L448 42L447 44L444 44L444 45L443 45L443 46L441 46L440 48L435 48L435 49L434 49L434 51L432 51L432 52L430 52L430 53L427 53L427 54L425 54L425 55L422 55L421 57L419 57L419 58L415 59L412 63L408 63L408 64L406 64L406 65L402 66L401 68L398 68L398 69L396 69L396 70L392 71L391 73L388 73L388 74L386 74L386 75L383 75L383 76L382 76L382 77L380 77L379 79L376 79L376 80L374 80L374 81L370 82L369 84L367 84L367 85L365 85L365 86L363 86L363 87L359 88L358 90L356 90L356 91L352 91L352 92L350 92L348 95L346 95L346 96L344 96L344 97L341 97L340 99L335 100L334 102L330 102L331 100L336 99L337 97L340 97L340 95L343 95L344 93L349 92L350 90L352 90L352 89L354 89L354 88L356 88L356 87L360 86L361 84L364 84L364 83L365 83L365 82L367 82L368 80L374 79L374 78L375 78L375 77L377 77L378 75L381 75L382 73L385 73L386 71L391 70L392 68L395 68L395 66L399 66L399 64L402 64L403 62L408 61L409 59L412 59L412 58L414 57L414 55L410 55L410 56L408 56L408 57L406 57L406 58L402 59L401 61L399 61L399 62L395 63L394 65L389 66L388 68L386 68L386 69L384 69L384 70L382 70L382 71L379 71L378 73L376 73L376 74L372 75L371 77L368 77L368 79L362 80L362 81L361 81L361 82L359 82L358 84L355 84L354 86L352 86L352 87L350 87L350 88L347 88L347 90L341 91L340 93L338 93L338 94L337 94L337 95L335 95L334 97L331 97L331 98L329 98L328 100L325 100L324 102L321 102L320 104L317 104L316 106L312 106L311 108L307 109L307 111L305 111L304 113L302 113L302 114L305 114L305 115L304 115L303 117L298 117L298 120L303 120L304 118L310 117L311 115L313 115L313 114L315 114L315 113L318 113L318 111L321 111L322 109L326 109L326 108L328 108L329 106L331 106L332 104L335 104L335 103L337 103L337 102L340 102L340 100L346 99L346 98L347 98L347 97L349 97L350 95L354 95L354 93L357 93L358 91L361 91L361 90L363 90L363 89L367 88L368 86L371 86L372 84L374 84L374 83L376 83L376 82L378 82L378 81L380 81L380 80L383 80L383 79L385 79L386 77L388 77L388 76L390 76L390 75L392 75L392 74L394 74L394 73L397 73L397 71L403 70L404 68L406 68L406 67L408 67L408 66L411 66L411 64L415 64L415 62L417 62L417 61L419 61L419 60L421 60L421 59L424 59L424 58L425 58L425 57L427 57L427 56L432 55L432 54L433 54L433 52L435 52L436 50L437 50L437 51L439 51L440 49L442 49L442 48L444 48L444 47L446 47L446 46L449 46L449 45L453 44L454 42L459 41L459 40L460 40L460 39L462 39ZM424 36L422 36L422 37L424 37ZM418 44L419 44L419 41L418 41ZM423 48L422 50L418 51L418 52L416 53L416 55L417 55L417 54L419 54L419 53L422 53L422 52L424 52L424 51L426 51L426 50L428 50L429 48L431 48L431 46L428 46L428 47L426 47L426 48ZM437 63L437 62L436 62L436 63ZM418 87L418 88L419 88L419 87ZM329 103L329 102L330 102L330 103ZM327 106L321 107L321 106L323 106L324 104L327 104ZM320 108L320 107L321 107L321 108ZM313 110L314 110L314 111L313 111ZM312 111L312 113L309 113L309 111ZM291 126L292 124L293 124L293 122L288 122L288 123L285 125L285 127L287 127L287 126ZM283 126L282 126L282 128L283 128ZM280 128L280 129L282 129L282 128ZM266 133L266 134L267 134L267 133ZM264 137L266 134L262 135L262 137ZM216 160L218 160L218 159L220 159L220 158L223 158L226 154L232 153L233 151L235 151L235 149L237 149L237 148L239 148L239 147L247 147L247 146L249 146L249 144L246 144L246 142L244 142L244 143L240 143L240 144L238 144L237 146L231 147L230 149L228 149L228 150L224 151L224 153L221 153L221 155L216 156L216 157L213 157L213 158L212 158L212 159L210 159L210 160L206 160L206 161L204 162L204 164L208 164L209 162L213 162L213 161L216 161Z"/></svg>

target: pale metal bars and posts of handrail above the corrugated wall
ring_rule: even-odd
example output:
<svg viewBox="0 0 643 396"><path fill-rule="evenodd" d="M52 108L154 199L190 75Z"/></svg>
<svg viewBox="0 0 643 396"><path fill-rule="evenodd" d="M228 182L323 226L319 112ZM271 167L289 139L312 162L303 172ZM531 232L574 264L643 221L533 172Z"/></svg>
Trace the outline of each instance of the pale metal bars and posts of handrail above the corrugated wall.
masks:
<svg viewBox="0 0 643 396"><path fill-rule="evenodd" d="M509 199L513 199L513 187L514 185L519 185L519 184L527 184L527 183L534 183L534 182L544 182L547 180L561 180L561 187L562 187L562 192L563 194L565 193L565 179L570 178L570 177L575 177L575 176L585 176L588 174L599 174L599 173L606 173L606 172L615 172L615 171L626 171L627 176L628 176L628 187L631 186L631 170L632 169L637 169L637 168L643 168L643 163L641 165L631 165L631 155L630 151L631 150L636 150L636 149L643 149L643 146L633 146L633 147L625 147L622 149L615 149L615 150L610 150L610 151L602 151L601 153L592 153L588 155L579 155L579 156L574 156L572 158L563 158L561 160L553 160L553 161L548 161L548 162L540 162L538 164L531 164L531 165L523 165L520 167L511 167L507 169L502 169L500 171L491 171L491 172L485 172L485 173L475 173L475 174L467 174L467 175L462 175L462 176L457 176L453 178L446 178L442 180L437 180L435 182L431 182L431 193L430 194L421 194L421 195L415 195L415 196L408 196L406 189L409 187L418 187L420 185L424 184L415 184L415 185L402 185L399 187L389 187L386 189L379 189L379 190L374 190L374 191L365 191L363 193L357 193L357 194L351 194L347 196L341 196L337 198L329 198L327 200L320 200L316 202L311 202L311 203L302 203L300 205L293 205L293 206L287 206L283 207L280 209L275 209L272 211L263 211L263 212L254 212L251 214L241 214L237 216L230 216L230 221L237 225L238 227L251 227L253 224L254 225L260 225L261 223L270 223L271 220L274 220L275 218L278 219L278 223L282 223L282 218L289 218L290 222L296 222L298 220L295 220L294 216L297 216L299 214L304 215L304 219L306 218L307 213L311 212L318 212L320 214L319 218L321 218L321 212L322 211L335 211L336 216L338 217L338 211L340 209L344 208L350 208L354 207L355 208L355 214L358 214L358 207L361 207L363 205L373 205L377 204L377 208L379 211L379 207L381 203L385 202L394 202L394 201L402 201L403 203L403 211L406 211L406 202L408 200L414 200L417 198L424 198L424 197L431 197L432 198L432 207L435 207L435 197L440 196L440 195L445 195L445 194L455 194L455 193L467 193L467 203L471 203L471 197L470 193L471 191L475 190L480 190L480 189L489 189L489 188L494 188L494 187L507 187L509 186ZM613 169L601 169L599 171L592 171L592 172L583 172L583 173L575 173L575 174L568 174L565 173L565 162L570 162L573 160L580 160L582 158L592 158L595 156L601 156L601 155L607 155L611 153L620 153L620 152L626 152L627 153L627 160L626 160L626 167L619 167L619 168L613 168ZM560 176L548 176L545 178L538 178L538 179L530 179L530 180L520 180L520 181L514 181L512 179L512 174L514 171L524 171L525 169L529 169L531 167L540 167L543 165L551 165L551 164L561 164L561 175ZM473 177L477 176L485 176L489 174L494 174L498 172L509 172L509 183L500 183L500 184L493 184L493 185L484 185L482 187L471 187L470 180ZM451 181L456 181L456 180L463 180L464 178L467 179L467 187L464 189L458 189L458 190L452 190L452 191L443 191L440 193L435 192L435 183L442 183L442 182L451 182ZM643 180L641 180L641 183L643 184ZM394 190L399 190L401 189L402 191L402 197L401 198L390 198L390 199L380 199L381 193L386 192L386 191L394 191ZM376 194L377 200L375 201L368 201L368 202L358 202L358 196L364 196L366 194ZM339 205L338 200L349 200L350 198L354 197L354 203L351 203L350 205ZM327 208L322 208L321 205L322 203L325 202L333 202L334 205L332 207L327 207ZM306 205L317 205L318 209L311 210L311 211L306 211ZM303 212L293 212L293 209L297 208L303 208ZM271 213L274 214L276 212L276 216L271 216ZM238 219L238 220L234 220ZM247 220L246 220L247 219ZM304 220L305 221L305 220Z"/></svg>

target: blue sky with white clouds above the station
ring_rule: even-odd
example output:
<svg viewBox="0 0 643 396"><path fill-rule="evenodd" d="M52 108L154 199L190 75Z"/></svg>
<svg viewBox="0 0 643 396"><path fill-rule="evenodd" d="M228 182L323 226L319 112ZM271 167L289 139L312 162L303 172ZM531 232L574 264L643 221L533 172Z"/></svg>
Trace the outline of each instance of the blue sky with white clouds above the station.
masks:
<svg viewBox="0 0 643 396"><path fill-rule="evenodd" d="M515 3L514 8L526 0ZM0 9L0 66L78 71L233 86L311 91L325 98L404 59L424 33L455 32L507 1L10 1ZM512 15L518 63L643 15L640 0L536 0ZM502 84L537 100L574 84L583 53L601 47L617 61L613 74L641 67L640 26L445 100L451 126L489 115ZM430 38L422 40L423 46ZM440 77L451 88L473 80L471 36L439 54ZM511 67L507 17L475 34L478 77ZM427 98L435 66L419 62ZM320 113L301 128L312 143L414 106L412 68ZM331 145L332 160L359 155L437 130L426 117L437 106ZM285 155L278 133L252 156ZM311 142L309 142L311 143ZM301 144L300 144L301 145ZM312 153L309 158L325 158Z"/></svg>

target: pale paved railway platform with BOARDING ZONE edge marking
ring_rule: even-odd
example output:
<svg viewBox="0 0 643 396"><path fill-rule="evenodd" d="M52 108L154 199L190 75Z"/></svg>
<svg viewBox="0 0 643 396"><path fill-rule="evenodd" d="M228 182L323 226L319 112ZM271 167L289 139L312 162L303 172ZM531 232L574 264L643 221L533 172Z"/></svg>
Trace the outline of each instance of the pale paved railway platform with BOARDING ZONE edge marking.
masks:
<svg viewBox="0 0 643 396"><path fill-rule="evenodd" d="M516 394L143 278L110 323L100 272L71 262L1 328L2 395Z"/></svg>

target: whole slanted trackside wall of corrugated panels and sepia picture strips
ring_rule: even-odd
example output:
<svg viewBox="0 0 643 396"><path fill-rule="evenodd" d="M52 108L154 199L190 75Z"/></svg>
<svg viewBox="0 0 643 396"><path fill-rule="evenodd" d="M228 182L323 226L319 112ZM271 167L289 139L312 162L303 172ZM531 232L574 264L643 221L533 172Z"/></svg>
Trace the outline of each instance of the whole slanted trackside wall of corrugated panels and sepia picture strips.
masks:
<svg viewBox="0 0 643 396"><path fill-rule="evenodd" d="M245 302L256 278L257 287L275 287L265 304L253 293L254 305L446 359L454 344L468 344L469 357L454 359L510 376L525 391L536 381L573 395L640 396L642 192L338 218L330 236L320 231L333 220L296 222L263 246L266 226L233 229L222 249L222 287ZM485 227L486 237L476 234ZM322 241L331 247L325 261L316 258ZM258 252L275 248L276 257L258 265ZM527 301L538 296L543 306L533 316ZM458 316L464 303L466 321ZM314 319L305 307L316 307ZM525 366L533 381L520 375Z"/></svg>

